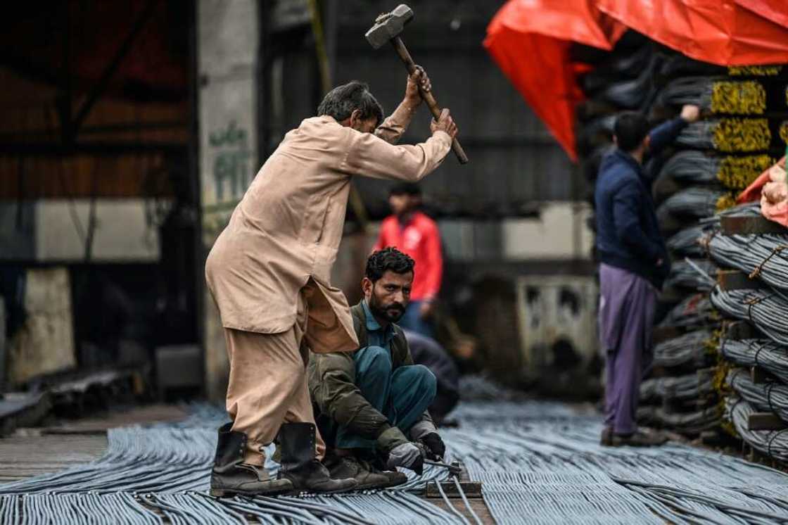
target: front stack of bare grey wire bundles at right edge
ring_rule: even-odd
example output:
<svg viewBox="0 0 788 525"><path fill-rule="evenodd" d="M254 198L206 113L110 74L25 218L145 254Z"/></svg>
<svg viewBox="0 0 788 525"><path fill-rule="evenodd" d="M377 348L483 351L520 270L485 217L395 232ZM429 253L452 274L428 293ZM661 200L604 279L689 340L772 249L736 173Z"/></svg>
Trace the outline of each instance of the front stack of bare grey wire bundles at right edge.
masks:
<svg viewBox="0 0 788 525"><path fill-rule="evenodd" d="M716 378L726 429L752 450L788 462L788 229L775 233L775 223L753 218L753 209L733 210L746 223L712 222L704 240L709 257L726 269L711 293L730 319Z"/></svg>

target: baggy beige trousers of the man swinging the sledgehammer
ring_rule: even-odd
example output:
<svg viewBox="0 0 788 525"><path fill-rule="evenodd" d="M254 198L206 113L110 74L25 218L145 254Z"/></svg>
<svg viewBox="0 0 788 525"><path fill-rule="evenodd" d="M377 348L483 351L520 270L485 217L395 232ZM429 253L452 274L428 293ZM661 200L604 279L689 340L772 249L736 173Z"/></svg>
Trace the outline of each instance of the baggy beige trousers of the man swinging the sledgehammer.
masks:
<svg viewBox="0 0 788 525"><path fill-rule="evenodd" d="M309 348L303 344L306 330L304 291L299 294L296 324L286 332L225 328L230 362L227 411L232 430L247 435L247 464L264 464L262 447L277 437L282 423L314 424L306 374ZM325 443L319 432L315 443L318 459L322 459Z"/></svg>

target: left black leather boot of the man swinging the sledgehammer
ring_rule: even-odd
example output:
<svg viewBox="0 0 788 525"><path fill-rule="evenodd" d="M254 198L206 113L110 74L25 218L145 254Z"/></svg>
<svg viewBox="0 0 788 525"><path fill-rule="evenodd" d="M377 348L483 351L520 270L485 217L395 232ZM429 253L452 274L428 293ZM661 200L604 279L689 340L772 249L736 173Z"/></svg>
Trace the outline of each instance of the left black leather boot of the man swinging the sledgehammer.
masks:
<svg viewBox="0 0 788 525"><path fill-rule="evenodd" d="M210 472L210 495L270 496L292 491L287 479L271 479L265 468L243 463L247 436L231 428L232 423L227 423L219 429L214 468Z"/></svg>

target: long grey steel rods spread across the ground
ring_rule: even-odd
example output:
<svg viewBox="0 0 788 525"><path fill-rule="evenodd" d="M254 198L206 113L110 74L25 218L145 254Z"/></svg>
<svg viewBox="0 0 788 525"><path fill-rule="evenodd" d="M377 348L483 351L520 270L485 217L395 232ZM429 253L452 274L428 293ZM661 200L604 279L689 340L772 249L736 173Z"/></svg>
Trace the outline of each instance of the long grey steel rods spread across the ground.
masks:
<svg viewBox="0 0 788 525"><path fill-rule="evenodd" d="M472 392L463 395L467 399ZM94 464L0 486L0 523L24 520L35 525L51 521L51 516L66 518L58 523L243 523L250 517L260 523L464 523L403 490L207 496L215 427L223 413L199 405L192 410L193 415L177 425L113 431L107 455ZM599 445L602 422L597 416L577 415L557 403L466 400L455 417L461 426L441 433L452 458L463 462L471 479L483 482L485 503L497 523L788 521L788 508L781 503L788 500L788 476L735 457L677 444L605 448ZM180 469L190 471L187 475L177 475L179 461L202 465L206 456L201 474L191 472L189 464ZM129 476L123 483L110 475L119 467ZM151 470L161 477L144 476ZM76 474L72 486L69 472ZM128 487L136 475L145 477L146 487L162 484L136 496L133 490L85 489L95 486L90 476ZM173 479L197 488L168 490ZM52 480L70 492L47 493Z"/></svg>

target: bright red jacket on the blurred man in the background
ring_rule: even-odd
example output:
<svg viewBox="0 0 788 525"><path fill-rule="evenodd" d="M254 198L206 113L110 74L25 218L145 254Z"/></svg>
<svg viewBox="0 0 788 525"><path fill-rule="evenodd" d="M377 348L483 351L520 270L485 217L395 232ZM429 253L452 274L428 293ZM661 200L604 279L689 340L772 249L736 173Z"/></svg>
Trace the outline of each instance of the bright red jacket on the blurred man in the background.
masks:
<svg viewBox="0 0 788 525"><path fill-rule="evenodd" d="M415 212L406 225L400 225L395 215L385 218L374 250L388 246L407 253L416 262L411 300L437 298L443 277L443 254L440 253L440 231L435 221L421 211Z"/></svg>

